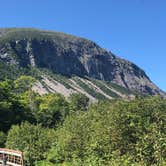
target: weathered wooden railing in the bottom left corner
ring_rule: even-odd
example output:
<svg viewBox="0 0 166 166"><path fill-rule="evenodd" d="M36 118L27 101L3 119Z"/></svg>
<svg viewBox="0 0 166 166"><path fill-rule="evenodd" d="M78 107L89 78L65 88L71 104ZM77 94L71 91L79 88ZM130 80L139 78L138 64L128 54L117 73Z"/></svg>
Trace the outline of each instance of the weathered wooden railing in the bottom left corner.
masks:
<svg viewBox="0 0 166 166"><path fill-rule="evenodd" d="M23 153L21 151L0 148L1 166L23 166Z"/></svg>

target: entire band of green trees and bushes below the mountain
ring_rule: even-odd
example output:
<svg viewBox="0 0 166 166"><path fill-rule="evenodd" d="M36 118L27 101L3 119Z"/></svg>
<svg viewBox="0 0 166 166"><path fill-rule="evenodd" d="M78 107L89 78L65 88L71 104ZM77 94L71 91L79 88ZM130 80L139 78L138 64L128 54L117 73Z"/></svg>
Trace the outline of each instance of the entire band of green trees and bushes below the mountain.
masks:
<svg viewBox="0 0 166 166"><path fill-rule="evenodd" d="M166 165L166 100L90 104L31 91L35 79L0 83L0 147L24 152L26 165Z"/></svg>

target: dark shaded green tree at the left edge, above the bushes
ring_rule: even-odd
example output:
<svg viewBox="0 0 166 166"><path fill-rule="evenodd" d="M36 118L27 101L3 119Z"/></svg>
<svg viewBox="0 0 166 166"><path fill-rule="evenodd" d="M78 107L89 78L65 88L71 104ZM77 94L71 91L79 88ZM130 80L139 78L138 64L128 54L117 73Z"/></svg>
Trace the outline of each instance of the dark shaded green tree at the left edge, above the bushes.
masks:
<svg viewBox="0 0 166 166"><path fill-rule="evenodd" d="M12 90L11 81L0 83L0 130L4 132L7 132L12 124L20 124L26 120L28 115L28 107Z"/></svg>

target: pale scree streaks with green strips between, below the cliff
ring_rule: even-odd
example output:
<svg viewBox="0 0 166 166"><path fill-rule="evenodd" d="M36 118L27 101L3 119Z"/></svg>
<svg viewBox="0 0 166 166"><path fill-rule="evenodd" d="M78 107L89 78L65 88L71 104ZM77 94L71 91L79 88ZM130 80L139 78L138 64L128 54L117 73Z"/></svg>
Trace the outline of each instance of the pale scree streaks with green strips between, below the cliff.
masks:
<svg viewBox="0 0 166 166"><path fill-rule="evenodd" d="M61 93L69 97L72 93L82 93L92 102L113 98L133 98L132 92L113 83L92 78L65 77L52 73L41 73L41 78L32 89L39 94Z"/></svg>

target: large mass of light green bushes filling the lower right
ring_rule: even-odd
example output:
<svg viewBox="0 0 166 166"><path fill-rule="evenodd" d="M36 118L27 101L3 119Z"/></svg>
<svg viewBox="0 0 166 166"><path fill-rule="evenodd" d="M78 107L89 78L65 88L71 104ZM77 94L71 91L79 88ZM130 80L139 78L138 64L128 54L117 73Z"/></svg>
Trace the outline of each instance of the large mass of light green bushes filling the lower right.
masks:
<svg viewBox="0 0 166 166"><path fill-rule="evenodd" d="M102 102L65 119L47 159L70 165L163 165L165 127L164 99Z"/></svg>

